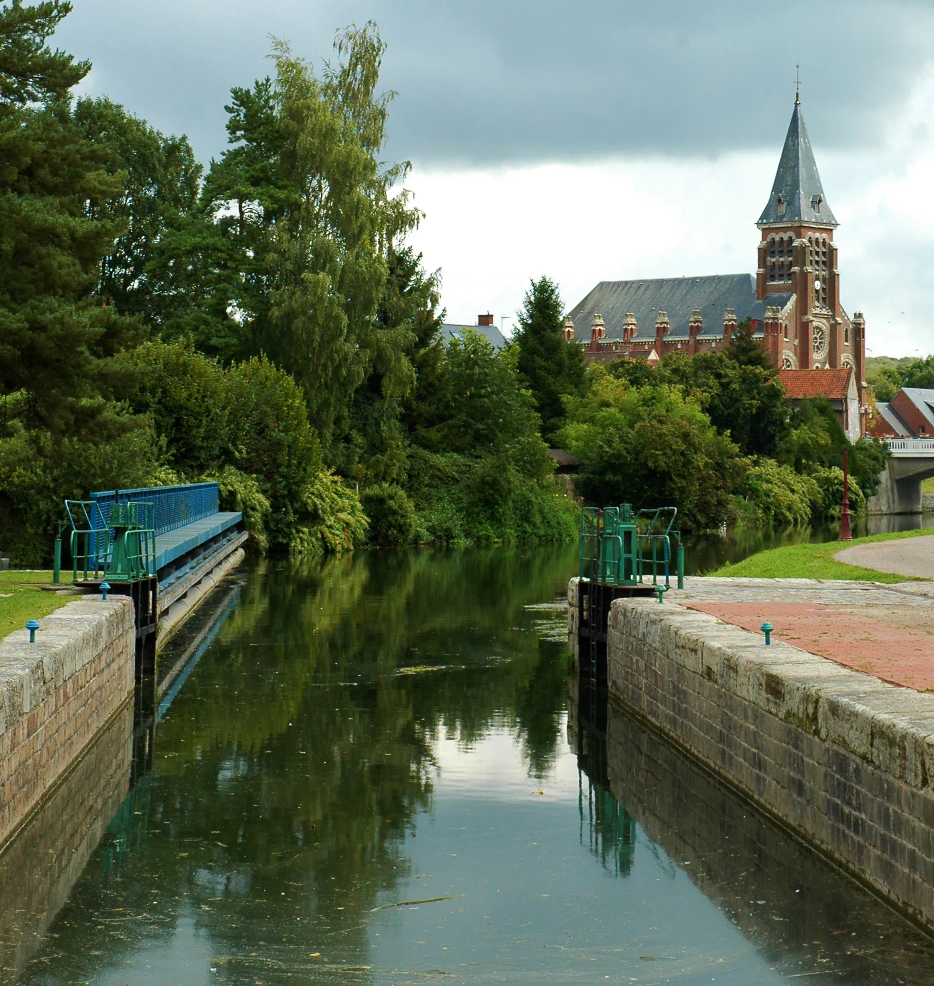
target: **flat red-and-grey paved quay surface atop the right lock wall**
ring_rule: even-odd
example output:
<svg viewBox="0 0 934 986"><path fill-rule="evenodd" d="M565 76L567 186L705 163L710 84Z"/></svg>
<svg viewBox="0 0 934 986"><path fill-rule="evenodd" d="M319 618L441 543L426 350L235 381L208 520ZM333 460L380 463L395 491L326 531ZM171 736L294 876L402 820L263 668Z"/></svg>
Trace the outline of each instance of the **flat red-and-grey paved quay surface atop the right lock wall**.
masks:
<svg viewBox="0 0 934 986"><path fill-rule="evenodd" d="M694 578L669 600L750 630L763 646L759 627L767 621L773 639L893 684L934 690L934 583Z"/></svg>

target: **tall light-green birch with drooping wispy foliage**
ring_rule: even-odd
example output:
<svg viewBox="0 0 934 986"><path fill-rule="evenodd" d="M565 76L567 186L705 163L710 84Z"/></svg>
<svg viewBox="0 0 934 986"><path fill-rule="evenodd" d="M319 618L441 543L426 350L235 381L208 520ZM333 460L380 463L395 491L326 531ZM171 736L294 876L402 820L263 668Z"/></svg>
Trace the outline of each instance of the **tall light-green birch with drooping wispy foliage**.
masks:
<svg viewBox="0 0 934 986"><path fill-rule="evenodd" d="M280 168L297 199L271 231L261 340L305 390L325 449L347 430L348 398L374 362L387 346L398 351L396 326L381 327L377 313L387 254L418 220L407 194L393 194L408 166L377 157L390 100L376 96L384 44L370 24L348 29L336 49L339 62L322 80L284 45L274 52ZM384 387L410 379L404 357L384 368Z"/></svg>

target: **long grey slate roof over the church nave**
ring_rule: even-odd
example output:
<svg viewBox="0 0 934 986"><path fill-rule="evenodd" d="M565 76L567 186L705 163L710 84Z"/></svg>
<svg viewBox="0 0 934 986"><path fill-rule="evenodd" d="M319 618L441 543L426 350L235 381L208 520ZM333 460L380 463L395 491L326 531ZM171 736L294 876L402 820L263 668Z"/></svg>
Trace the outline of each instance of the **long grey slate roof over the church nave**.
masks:
<svg viewBox="0 0 934 986"><path fill-rule="evenodd" d="M728 308L736 310L738 321L748 317L761 321L766 305L784 308L792 297L791 294L774 294L766 301L757 301L752 274L601 281L571 310L570 316L575 336L585 342L590 340L591 321L597 313L604 317L608 339L622 338L622 321L627 312L631 312L638 323L635 338L654 339L655 317L659 310L668 314L672 324L668 338L672 338L687 336L690 313L699 309L704 320L703 338L723 335L723 315Z"/></svg>

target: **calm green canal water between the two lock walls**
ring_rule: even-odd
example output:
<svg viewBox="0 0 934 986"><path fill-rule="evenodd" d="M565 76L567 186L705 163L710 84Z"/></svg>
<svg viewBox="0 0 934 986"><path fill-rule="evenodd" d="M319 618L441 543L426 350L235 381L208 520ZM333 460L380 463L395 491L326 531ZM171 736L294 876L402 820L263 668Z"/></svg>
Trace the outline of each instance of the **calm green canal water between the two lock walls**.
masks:
<svg viewBox="0 0 934 986"><path fill-rule="evenodd" d="M112 726L0 857L3 981L930 983L930 939L578 696L575 567L424 550L228 579L162 658L183 670L148 752Z"/></svg>

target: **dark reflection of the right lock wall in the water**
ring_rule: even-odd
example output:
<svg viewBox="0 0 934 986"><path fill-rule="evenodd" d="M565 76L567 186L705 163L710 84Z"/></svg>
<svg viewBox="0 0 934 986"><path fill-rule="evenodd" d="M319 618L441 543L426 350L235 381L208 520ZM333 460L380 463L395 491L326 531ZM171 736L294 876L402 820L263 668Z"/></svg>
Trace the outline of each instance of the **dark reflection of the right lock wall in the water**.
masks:
<svg viewBox="0 0 934 986"><path fill-rule="evenodd" d="M664 852L784 976L867 986L931 982L929 938L603 698L594 718L591 697L578 697L574 686L569 692L578 760L596 770L588 778L601 809L592 843L602 858L607 820L637 822L641 841Z"/></svg>

